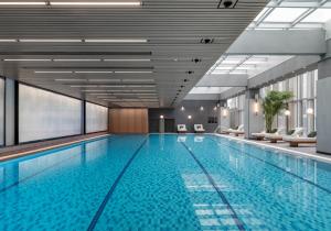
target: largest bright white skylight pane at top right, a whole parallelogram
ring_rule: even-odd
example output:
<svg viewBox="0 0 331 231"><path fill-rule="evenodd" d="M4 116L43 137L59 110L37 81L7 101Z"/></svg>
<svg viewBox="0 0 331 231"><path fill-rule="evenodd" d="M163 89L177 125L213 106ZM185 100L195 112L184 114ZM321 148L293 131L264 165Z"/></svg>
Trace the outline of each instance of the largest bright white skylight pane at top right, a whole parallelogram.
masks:
<svg viewBox="0 0 331 231"><path fill-rule="evenodd" d="M307 10L308 8L276 8L265 22L293 22Z"/></svg>

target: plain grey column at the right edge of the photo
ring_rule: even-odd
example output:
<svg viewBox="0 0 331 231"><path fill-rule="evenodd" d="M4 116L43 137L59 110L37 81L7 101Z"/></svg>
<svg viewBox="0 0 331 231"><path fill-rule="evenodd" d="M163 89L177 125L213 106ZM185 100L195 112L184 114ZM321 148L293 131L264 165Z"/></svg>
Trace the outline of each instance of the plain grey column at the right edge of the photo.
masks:
<svg viewBox="0 0 331 231"><path fill-rule="evenodd" d="M317 151L331 154L331 37L327 41L328 53L318 64L317 82Z"/></svg>

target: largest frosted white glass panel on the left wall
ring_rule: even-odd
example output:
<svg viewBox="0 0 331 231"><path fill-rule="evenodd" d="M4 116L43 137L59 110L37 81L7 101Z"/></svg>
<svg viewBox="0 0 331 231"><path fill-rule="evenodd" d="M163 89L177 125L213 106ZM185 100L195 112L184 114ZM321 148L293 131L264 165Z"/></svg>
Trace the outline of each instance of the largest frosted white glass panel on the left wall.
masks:
<svg viewBox="0 0 331 231"><path fill-rule="evenodd" d="M19 142L81 134L82 101L19 86Z"/></svg>

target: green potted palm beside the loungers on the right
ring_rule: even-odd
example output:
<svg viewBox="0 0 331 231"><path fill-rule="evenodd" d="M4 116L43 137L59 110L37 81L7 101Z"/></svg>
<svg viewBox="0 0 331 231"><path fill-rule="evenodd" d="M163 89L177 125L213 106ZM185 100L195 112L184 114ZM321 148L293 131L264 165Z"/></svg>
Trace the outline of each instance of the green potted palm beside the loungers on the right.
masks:
<svg viewBox="0 0 331 231"><path fill-rule="evenodd" d="M275 117L287 107L287 101L293 97L291 91L271 90L263 100L263 109L266 121L266 131L271 132Z"/></svg>

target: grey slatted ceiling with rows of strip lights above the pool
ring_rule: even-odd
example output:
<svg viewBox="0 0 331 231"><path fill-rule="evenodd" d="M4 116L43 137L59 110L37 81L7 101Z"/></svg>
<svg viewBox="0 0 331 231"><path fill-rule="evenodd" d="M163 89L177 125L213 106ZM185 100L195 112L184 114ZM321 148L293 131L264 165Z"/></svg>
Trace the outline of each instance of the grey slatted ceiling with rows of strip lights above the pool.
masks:
<svg viewBox="0 0 331 231"><path fill-rule="evenodd" d="M18 0L19 1L19 0ZM191 90L265 7L267 0L239 0L217 9L218 0L143 0L138 8L0 7L0 38L147 38L147 43L0 43L3 58L149 58L151 62L1 62L4 74L22 81L94 102L119 107L169 107ZM201 44L201 38L213 38ZM201 59L200 63L192 58ZM36 69L141 69L152 74L35 74ZM189 75L191 70L193 74ZM156 80L159 102L104 101L58 78ZM188 81L184 81L188 79ZM73 82L73 85L77 82ZM88 85L89 82L86 82ZM109 84L109 82L107 82ZM128 82L129 85L129 82ZM184 86L181 88L181 86ZM106 90L118 88L100 88ZM132 88L125 88L126 90ZM139 88L148 89L148 88ZM138 98L138 96L137 96Z"/></svg>

